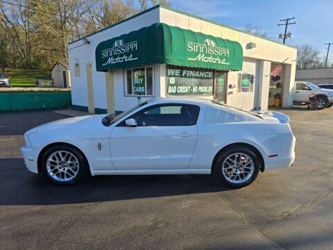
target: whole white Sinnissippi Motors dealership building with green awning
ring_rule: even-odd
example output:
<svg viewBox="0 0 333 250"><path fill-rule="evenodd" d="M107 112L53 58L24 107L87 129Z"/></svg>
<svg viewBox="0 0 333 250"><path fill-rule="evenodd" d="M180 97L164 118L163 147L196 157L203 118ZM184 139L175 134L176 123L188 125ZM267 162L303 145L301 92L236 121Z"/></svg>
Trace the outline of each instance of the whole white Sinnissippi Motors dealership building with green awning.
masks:
<svg viewBox="0 0 333 250"><path fill-rule="evenodd" d="M293 101L296 48L165 6L71 42L68 53L73 107L90 113L120 113L153 97L244 110Z"/></svg>

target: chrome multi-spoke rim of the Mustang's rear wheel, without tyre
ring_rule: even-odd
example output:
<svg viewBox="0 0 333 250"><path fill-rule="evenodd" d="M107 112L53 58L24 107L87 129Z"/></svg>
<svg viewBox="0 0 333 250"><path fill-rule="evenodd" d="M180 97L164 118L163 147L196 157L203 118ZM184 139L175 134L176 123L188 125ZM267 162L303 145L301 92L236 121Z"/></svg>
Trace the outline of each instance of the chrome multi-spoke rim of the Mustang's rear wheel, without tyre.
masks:
<svg viewBox="0 0 333 250"><path fill-rule="evenodd" d="M253 176L254 171L255 164L246 153L232 153L222 164L223 176L234 184L245 183Z"/></svg>

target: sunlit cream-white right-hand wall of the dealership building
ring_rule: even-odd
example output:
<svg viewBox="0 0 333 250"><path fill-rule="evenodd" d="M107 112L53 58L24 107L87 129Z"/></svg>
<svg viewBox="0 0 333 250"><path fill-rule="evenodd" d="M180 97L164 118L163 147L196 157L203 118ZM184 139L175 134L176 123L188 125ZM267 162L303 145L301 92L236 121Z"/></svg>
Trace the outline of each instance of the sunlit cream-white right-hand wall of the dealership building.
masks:
<svg viewBox="0 0 333 250"><path fill-rule="evenodd" d="M255 90L257 90L258 93L241 94L237 92L237 88L228 90L227 103L232 106L237 106L238 108L243 107L246 110L250 110L255 106L261 106L266 109L268 102L268 85L266 84L267 77L264 78L264 74L269 74L271 69L265 67L264 70L259 71L260 63L262 61L268 63L284 62L284 65L289 65L291 72L288 75L290 78L286 80L288 86L286 86L287 88L285 90L285 93L289 94L289 97L286 97L286 101L284 101L283 106L291 106L291 90L293 90L293 86L295 84L293 76L296 68L296 48L264 38L259 38L255 35L250 35L242 31L237 31L227 26L207 22L204 19L185 15L181 12L175 12L167 8L160 8L160 22L189 29L191 31L201 32L207 35L214 35L223 39L234 40L241 44L244 53L243 71L255 72L255 85L257 85ZM254 49L248 49L247 44L249 42L254 42L256 47ZM255 65L253 65L253 63L255 63ZM265 66L267 66L268 63L266 63ZM237 72L230 72L228 74L228 85L229 84L237 84ZM263 84L265 85L264 88L262 88ZM258 94L259 96L259 90L261 94L260 97L265 98L264 101L255 99L254 94Z"/></svg>

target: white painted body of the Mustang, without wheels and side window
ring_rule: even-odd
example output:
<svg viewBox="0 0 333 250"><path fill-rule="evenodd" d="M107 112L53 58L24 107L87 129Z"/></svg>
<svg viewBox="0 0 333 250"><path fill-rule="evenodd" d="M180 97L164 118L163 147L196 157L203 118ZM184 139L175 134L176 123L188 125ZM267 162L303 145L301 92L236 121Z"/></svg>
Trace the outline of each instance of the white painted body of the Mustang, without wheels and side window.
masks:
<svg viewBox="0 0 333 250"><path fill-rule="evenodd" d="M196 124L117 126L138 110L161 103L200 107ZM265 169L291 166L296 139L289 117L281 113L257 116L204 99L151 99L111 126L102 124L105 115L61 119L37 126L25 133L26 144L21 151L26 167L33 173L40 172L37 162L41 151L58 142L80 149L93 176L210 174L216 154L235 143L255 147Z"/></svg>

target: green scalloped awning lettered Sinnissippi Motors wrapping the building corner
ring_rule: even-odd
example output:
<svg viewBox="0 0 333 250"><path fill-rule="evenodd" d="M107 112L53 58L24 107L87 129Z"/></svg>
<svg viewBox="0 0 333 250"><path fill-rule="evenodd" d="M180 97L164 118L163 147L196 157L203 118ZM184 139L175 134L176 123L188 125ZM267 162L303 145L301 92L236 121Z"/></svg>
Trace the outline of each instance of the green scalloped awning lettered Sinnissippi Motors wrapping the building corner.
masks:
<svg viewBox="0 0 333 250"><path fill-rule="evenodd" d="M103 41L95 54L99 72L154 63L241 70L243 63L238 42L162 23Z"/></svg>

